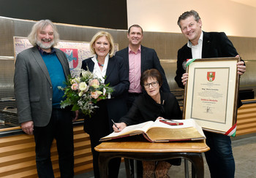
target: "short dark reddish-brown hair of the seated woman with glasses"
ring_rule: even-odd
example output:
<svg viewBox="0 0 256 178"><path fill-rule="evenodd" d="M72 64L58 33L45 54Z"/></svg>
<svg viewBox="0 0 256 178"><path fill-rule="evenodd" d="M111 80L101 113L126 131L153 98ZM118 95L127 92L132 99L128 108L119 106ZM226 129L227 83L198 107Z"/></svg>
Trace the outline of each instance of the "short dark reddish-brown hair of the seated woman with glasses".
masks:
<svg viewBox="0 0 256 178"><path fill-rule="evenodd" d="M148 81L148 78L156 78L159 86L162 86L162 75L157 69L148 69L141 74L140 85L144 87L144 82Z"/></svg>

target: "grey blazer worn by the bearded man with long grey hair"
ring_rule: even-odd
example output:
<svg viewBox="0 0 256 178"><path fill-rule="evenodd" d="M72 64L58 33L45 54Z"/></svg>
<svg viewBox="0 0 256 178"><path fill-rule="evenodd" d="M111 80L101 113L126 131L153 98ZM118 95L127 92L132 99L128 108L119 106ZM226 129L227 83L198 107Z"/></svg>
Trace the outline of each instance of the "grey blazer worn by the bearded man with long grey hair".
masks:
<svg viewBox="0 0 256 178"><path fill-rule="evenodd" d="M67 77L70 74L67 57L61 50L54 49ZM48 125L52 112L53 87L37 47L23 50L17 55L14 88L19 123L33 120L35 126Z"/></svg>

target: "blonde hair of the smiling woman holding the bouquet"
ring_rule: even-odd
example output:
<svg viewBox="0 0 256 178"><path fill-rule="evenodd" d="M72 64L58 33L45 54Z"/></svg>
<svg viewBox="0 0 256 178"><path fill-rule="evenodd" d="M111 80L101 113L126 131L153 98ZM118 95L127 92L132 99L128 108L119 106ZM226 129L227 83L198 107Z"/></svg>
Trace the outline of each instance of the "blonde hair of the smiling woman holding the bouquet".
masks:
<svg viewBox="0 0 256 178"><path fill-rule="evenodd" d="M110 43L109 55L110 55L110 57L112 57L115 52L114 40L113 40L113 37L111 36L111 34L106 31L99 31L97 34L95 34L92 37L91 42L90 42L91 53L96 54L93 45L94 45L94 42L96 42L97 39L99 39L102 36L105 36L108 39L108 42Z"/></svg>

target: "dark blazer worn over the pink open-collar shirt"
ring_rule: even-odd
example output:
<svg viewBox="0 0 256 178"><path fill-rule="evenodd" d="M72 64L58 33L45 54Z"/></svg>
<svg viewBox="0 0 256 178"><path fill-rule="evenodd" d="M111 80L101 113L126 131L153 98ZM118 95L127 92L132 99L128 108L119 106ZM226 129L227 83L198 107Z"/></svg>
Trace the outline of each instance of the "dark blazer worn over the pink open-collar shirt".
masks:
<svg viewBox="0 0 256 178"><path fill-rule="evenodd" d="M123 50L119 50L118 52L116 52L116 55L124 58L124 62L127 66L129 74L129 47L126 47ZM161 87L162 91L170 92L170 88L165 77L165 71L164 69L162 69L156 51L154 49L143 47L143 45L141 45L141 74L143 73L143 71L146 71L148 69L157 69L160 72L163 80Z"/></svg>

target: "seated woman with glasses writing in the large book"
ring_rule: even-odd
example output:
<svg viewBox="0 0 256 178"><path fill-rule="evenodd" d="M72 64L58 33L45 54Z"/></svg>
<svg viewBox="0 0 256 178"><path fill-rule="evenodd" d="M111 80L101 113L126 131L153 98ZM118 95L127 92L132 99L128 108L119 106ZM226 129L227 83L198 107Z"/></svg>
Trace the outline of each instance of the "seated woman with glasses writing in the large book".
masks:
<svg viewBox="0 0 256 178"><path fill-rule="evenodd" d="M119 132L127 125L135 125L149 120L181 119L181 109L172 93L162 93L162 76L157 69L149 69L140 77L140 85L146 90L132 104L124 117L113 125L113 130ZM181 159L165 161L143 161L143 177L169 177L170 166L181 164Z"/></svg>

